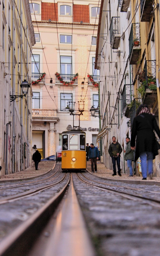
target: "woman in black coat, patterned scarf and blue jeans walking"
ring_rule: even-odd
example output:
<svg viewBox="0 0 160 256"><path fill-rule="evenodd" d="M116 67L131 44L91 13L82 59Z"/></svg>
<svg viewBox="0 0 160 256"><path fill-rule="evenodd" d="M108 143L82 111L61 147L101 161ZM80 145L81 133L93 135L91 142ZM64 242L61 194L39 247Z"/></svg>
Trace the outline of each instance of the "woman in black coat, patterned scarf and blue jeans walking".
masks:
<svg viewBox="0 0 160 256"><path fill-rule="evenodd" d="M146 180L147 171L149 177L152 178L153 159L155 159L155 156L158 155L154 130L160 138L160 130L157 125L155 116L151 114L147 105L141 104L137 109L136 117L133 120L131 149L136 149L135 161L138 159L138 157L140 157L143 176L142 180Z"/></svg>

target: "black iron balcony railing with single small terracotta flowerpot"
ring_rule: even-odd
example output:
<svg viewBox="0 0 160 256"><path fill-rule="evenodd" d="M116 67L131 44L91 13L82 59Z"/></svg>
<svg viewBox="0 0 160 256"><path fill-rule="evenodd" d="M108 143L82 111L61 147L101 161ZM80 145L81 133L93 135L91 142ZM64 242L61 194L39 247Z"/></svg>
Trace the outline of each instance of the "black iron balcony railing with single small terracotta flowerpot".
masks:
<svg viewBox="0 0 160 256"><path fill-rule="evenodd" d="M131 32L129 36L129 56L131 56L134 41L139 41L140 45L140 23L132 23Z"/></svg>

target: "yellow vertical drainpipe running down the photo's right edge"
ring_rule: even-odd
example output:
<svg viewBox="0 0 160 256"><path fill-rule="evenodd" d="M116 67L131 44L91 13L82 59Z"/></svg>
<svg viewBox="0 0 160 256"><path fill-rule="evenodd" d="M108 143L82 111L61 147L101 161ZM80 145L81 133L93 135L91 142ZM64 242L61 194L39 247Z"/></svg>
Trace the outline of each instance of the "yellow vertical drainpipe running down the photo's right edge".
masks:
<svg viewBox="0 0 160 256"><path fill-rule="evenodd" d="M159 79L158 79L158 70L159 70L159 31L158 31L158 5L157 5L157 14L155 14L155 42L156 42L156 85L157 85L157 100L158 100L158 119L160 127L160 92L159 92ZM155 10L155 12L156 12Z"/></svg>

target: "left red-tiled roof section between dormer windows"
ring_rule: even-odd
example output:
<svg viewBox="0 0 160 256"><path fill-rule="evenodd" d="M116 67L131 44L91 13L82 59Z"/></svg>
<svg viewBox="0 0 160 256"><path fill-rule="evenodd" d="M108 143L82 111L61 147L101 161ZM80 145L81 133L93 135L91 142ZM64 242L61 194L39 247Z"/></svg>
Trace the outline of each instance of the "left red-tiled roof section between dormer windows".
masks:
<svg viewBox="0 0 160 256"><path fill-rule="evenodd" d="M55 9L56 9L56 15L55 15ZM51 19L51 21L58 21L58 5L55 3L41 3L41 20L48 21Z"/></svg>

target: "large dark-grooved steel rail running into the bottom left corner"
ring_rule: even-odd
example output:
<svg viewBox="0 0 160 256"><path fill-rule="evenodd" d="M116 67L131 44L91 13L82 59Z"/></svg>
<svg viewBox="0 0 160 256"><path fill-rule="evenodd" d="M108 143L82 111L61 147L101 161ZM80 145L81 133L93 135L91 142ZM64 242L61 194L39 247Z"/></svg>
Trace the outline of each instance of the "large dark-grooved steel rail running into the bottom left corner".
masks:
<svg viewBox="0 0 160 256"><path fill-rule="evenodd" d="M0 256L22 256L31 248L35 238L53 215L69 185L67 184L51 198L41 209L38 209L28 220L0 242Z"/></svg>

